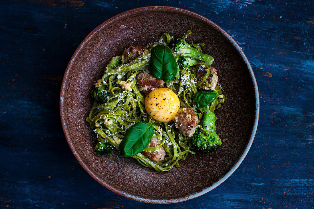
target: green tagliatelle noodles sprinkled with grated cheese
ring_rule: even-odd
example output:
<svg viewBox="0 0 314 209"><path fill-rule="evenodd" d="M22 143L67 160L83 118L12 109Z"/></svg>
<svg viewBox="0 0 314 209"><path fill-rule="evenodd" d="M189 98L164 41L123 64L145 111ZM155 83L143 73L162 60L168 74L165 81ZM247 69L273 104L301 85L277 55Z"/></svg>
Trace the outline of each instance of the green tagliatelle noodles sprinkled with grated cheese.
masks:
<svg viewBox="0 0 314 209"><path fill-rule="evenodd" d="M186 35L188 34L186 33ZM159 122L147 114L144 107L144 95L139 91L136 81L138 73L150 70L151 49L158 44L171 48L169 44L172 41L173 36L163 34L159 42L147 47L148 51L126 64L120 61L121 56L113 57L105 68L103 77L97 82L105 85L106 102L95 102L86 119L90 123L90 127L95 131L99 143L109 142L117 149L119 149L119 144L126 131L133 124L137 122L153 122L153 137L159 139L161 144L156 147L146 147L144 151L156 151L163 146L167 152L165 159L156 163L141 153L132 157L143 166L152 167L156 171L169 171L173 166L179 167L179 160L186 159L188 153L194 154L188 145L190 137L182 135L174 126L173 121L168 123ZM202 44L195 45L195 47L200 45ZM174 56L176 61L180 58L176 53L174 53ZM201 80L206 80L208 76L209 71ZM128 88L125 88L125 85L122 88L122 84L126 84ZM200 83L196 82L195 67L179 67L176 77L169 83L166 83L166 87L178 95L181 107L193 108L200 120L203 117L203 110L198 108L193 101L195 94L198 93L197 87L199 85ZM217 92L219 97L210 105L210 111L212 112L220 108L221 103L225 100L220 86L217 85L214 92Z"/></svg>

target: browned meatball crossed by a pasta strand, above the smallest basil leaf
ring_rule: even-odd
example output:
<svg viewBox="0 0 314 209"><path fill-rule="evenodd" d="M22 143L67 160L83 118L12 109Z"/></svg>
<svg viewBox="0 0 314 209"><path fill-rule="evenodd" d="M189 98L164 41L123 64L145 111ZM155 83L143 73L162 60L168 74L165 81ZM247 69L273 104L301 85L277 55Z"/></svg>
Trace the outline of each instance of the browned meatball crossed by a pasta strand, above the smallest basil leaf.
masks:
<svg viewBox="0 0 314 209"><path fill-rule="evenodd" d="M210 71L210 74L208 78L205 80L207 82L203 82L199 88L202 88L204 90L214 90L217 83L218 83L218 76L217 76L217 71L214 67L208 66L208 69L205 68L204 64L198 65L196 67L196 81L200 81L203 76L206 74L206 71Z"/></svg>

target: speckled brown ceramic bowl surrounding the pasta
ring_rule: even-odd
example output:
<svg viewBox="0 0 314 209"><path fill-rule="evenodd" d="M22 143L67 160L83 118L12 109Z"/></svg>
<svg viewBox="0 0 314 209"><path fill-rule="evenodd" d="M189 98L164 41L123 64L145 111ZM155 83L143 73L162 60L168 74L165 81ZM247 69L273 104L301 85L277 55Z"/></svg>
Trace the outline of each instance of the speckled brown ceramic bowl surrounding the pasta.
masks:
<svg viewBox="0 0 314 209"><path fill-rule="evenodd" d="M190 154L179 168L156 172L117 150L93 152L94 132L85 118L92 101L89 91L113 56L130 45L146 46L167 32L189 42L203 42L214 57L226 102L215 111L222 146L213 153ZM68 144L82 167L107 189L149 203L186 201L214 189L240 165L257 129L259 98L254 73L236 42L212 21L174 7L143 7L116 15L94 29L78 46L64 74L60 114Z"/></svg>

